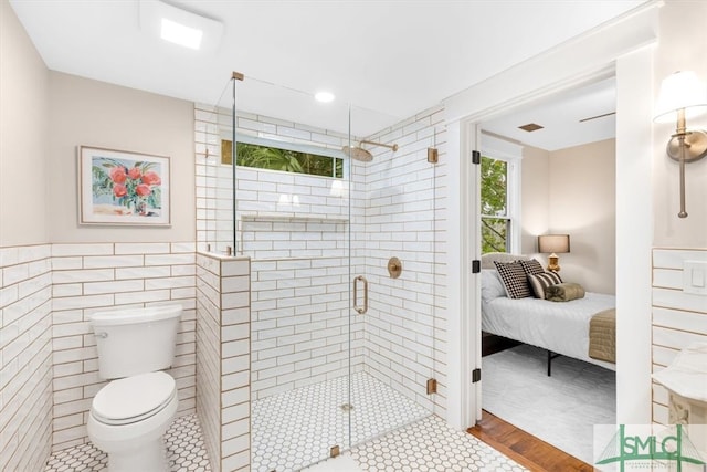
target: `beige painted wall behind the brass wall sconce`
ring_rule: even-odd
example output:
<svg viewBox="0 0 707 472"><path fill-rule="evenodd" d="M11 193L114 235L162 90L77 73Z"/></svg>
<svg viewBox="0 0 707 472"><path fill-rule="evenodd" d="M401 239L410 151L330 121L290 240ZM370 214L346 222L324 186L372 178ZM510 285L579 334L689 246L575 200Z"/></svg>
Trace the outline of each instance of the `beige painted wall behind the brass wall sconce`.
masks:
<svg viewBox="0 0 707 472"><path fill-rule="evenodd" d="M690 21L685 21L689 18ZM675 71L692 70L707 81L707 2L666 1L661 9L659 38L655 51L654 81L657 97L661 81ZM707 129L707 116L687 120L687 127ZM675 124L653 127L654 244L672 248L707 248L707 158L686 167L686 210L680 219L678 165L665 155Z"/></svg>

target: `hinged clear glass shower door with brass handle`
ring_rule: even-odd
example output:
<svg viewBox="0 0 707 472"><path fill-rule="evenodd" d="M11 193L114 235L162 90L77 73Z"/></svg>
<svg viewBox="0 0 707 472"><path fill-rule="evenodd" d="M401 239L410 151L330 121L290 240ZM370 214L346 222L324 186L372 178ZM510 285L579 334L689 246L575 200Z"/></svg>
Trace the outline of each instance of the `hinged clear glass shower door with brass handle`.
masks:
<svg viewBox="0 0 707 472"><path fill-rule="evenodd" d="M351 447L431 415L443 359L436 252L441 113L408 119L352 106L349 185ZM440 284L440 285L439 285ZM358 289L358 290L357 290ZM428 387L431 392L428 394Z"/></svg>

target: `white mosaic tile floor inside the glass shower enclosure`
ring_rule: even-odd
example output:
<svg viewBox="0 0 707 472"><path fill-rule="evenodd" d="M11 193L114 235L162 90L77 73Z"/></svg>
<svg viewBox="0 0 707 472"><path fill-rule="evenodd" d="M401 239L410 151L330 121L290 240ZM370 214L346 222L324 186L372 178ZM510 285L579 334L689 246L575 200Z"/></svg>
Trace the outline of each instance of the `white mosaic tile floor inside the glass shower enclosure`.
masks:
<svg viewBox="0 0 707 472"><path fill-rule="evenodd" d="M289 472L329 457L329 448L348 448L430 415L366 373L289 390L252 405L253 472Z"/></svg>

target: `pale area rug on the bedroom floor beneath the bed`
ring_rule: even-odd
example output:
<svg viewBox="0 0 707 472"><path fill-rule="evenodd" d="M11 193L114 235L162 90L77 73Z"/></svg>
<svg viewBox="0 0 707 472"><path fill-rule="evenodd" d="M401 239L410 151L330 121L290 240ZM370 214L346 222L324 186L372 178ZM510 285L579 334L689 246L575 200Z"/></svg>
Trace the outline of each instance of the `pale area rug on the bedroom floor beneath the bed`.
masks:
<svg viewBox="0 0 707 472"><path fill-rule="evenodd" d="M483 408L546 442L592 463L593 424L616 422L613 370L520 345L482 359Z"/></svg>

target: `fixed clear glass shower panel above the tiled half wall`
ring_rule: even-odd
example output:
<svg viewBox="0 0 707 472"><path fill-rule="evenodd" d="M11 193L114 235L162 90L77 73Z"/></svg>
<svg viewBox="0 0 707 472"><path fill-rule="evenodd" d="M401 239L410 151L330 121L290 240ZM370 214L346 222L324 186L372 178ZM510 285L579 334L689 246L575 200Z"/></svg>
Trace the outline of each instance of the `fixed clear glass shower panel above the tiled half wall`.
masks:
<svg viewBox="0 0 707 472"><path fill-rule="evenodd" d="M299 470L350 443L348 115L239 84L234 247L251 256L254 471Z"/></svg>

